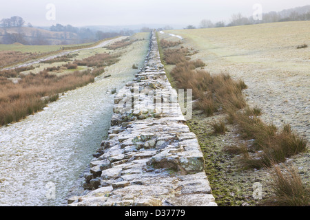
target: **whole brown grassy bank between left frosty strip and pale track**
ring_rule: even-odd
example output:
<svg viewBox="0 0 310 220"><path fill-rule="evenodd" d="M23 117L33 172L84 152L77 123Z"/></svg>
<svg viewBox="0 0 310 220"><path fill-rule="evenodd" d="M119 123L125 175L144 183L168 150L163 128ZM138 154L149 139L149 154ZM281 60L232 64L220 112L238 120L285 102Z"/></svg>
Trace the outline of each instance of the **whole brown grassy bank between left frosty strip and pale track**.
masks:
<svg viewBox="0 0 310 220"><path fill-rule="evenodd" d="M57 100L59 94L93 83L94 78L104 72L104 67L119 61L119 56L120 54L96 54L62 66L47 67L38 74L32 74L32 66L0 72L0 125L18 122L32 113L41 111L46 104ZM56 58L56 61L58 59ZM52 63L51 61L50 64ZM77 71L79 65L92 69ZM61 76L52 74L60 69L72 71ZM21 74L26 70L30 71L30 74ZM13 83L8 77L19 80Z"/></svg>

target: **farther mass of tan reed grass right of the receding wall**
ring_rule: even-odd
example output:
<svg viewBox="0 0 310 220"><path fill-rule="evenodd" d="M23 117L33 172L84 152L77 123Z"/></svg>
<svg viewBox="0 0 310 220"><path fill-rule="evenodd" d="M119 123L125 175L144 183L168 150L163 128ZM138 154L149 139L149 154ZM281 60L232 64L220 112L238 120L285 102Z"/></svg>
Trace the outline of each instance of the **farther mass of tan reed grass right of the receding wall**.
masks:
<svg viewBox="0 0 310 220"><path fill-rule="evenodd" d="M209 72L199 69L205 63L201 60L189 61L186 56L189 49L166 49L164 52L165 63L176 65L170 72L176 86L183 89L192 89L197 100L196 109L203 110L208 116L213 115L218 109L228 109L231 106L242 109L246 106L242 97L242 89L247 88L242 80L232 80L228 74L211 76Z"/></svg>

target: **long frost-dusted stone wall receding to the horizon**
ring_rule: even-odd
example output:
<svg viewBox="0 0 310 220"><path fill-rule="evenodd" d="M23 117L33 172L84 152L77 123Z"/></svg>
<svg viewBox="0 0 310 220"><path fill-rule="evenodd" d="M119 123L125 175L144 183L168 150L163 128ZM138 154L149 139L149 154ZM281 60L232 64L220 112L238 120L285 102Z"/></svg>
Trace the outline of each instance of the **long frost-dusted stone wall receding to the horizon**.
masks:
<svg viewBox="0 0 310 220"><path fill-rule="evenodd" d="M118 91L107 140L68 206L216 206L196 135L167 80L152 32L145 65Z"/></svg>

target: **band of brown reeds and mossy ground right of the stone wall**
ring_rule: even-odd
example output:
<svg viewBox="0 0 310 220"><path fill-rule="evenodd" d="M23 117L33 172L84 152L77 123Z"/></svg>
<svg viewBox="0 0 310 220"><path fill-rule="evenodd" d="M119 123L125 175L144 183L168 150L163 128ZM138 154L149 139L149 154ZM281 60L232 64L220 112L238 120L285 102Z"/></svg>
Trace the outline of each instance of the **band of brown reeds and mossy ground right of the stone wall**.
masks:
<svg viewBox="0 0 310 220"><path fill-rule="evenodd" d="M281 199L276 189L284 184L276 177L279 179L282 171L275 172L273 182L265 181L264 177L273 173L270 168L276 170L276 164L307 151L307 142L293 133L289 124L278 131L273 124L262 122L258 117L261 109L248 107L242 96L242 89L247 88L242 80L232 80L228 74L210 74L202 69L203 61L190 61L189 56L196 53L177 45L164 42L167 49L160 49L161 56L165 65L175 65L169 67L168 73L173 85L193 89L196 111L187 123L196 133L205 155L205 170L218 205L270 205L253 197L256 182L263 183L264 199L273 199L274 206L289 205L292 197L300 201L295 205L308 205L305 201L309 199L309 189L298 175L291 175L291 179L299 181L302 185L299 188L304 190L295 190L295 184L286 184L291 186L287 190L291 194L282 194ZM200 64L195 65L196 62ZM260 168L259 175L254 168ZM296 199L298 197L301 199Z"/></svg>

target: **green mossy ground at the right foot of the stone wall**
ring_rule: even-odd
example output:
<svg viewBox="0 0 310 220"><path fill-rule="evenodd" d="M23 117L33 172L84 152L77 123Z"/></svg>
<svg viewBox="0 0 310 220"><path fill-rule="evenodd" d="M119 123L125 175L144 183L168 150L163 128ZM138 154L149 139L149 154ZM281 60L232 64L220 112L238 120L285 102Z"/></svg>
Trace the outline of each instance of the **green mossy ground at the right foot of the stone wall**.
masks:
<svg viewBox="0 0 310 220"><path fill-rule="evenodd" d="M205 173L216 203L218 206L241 206L242 203L256 206L258 201L252 197L251 181L241 175L242 169L236 165L238 163L234 156L223 151L225 137L214 135L211 127L201 117L202 115L193 115L187 125L198 138L205 158Z"/></svg>

